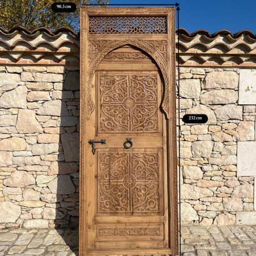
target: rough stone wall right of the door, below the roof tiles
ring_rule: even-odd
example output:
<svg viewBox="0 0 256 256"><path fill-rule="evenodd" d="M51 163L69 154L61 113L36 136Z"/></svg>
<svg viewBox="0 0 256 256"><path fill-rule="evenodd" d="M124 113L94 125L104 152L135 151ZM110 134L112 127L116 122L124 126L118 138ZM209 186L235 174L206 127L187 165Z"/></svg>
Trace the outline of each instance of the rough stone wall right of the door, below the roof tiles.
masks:
<svg viewBox="0 0 256 256"><path fill-rule="evenodd" d="M240 171L237 160L244 154L241 145L250 152L255 147L256 101L248 101L251 105L238 104L238 91L243 83L241 71L245 70L180 69L181 118L184 114L208 116L208 121L199 125L181 121L181 220L184 224L231 225L246 222L248 215L241 214L243 211L254 214L254 177L251 176L255 171L249 169L251 174L246 175L237 173ZM251 83L256 86L256 76ZM238 154L237 148L241 149ZM254 157L250 155L247 160L255 168ZM240 217L236 219L237 212Z"/></svg>

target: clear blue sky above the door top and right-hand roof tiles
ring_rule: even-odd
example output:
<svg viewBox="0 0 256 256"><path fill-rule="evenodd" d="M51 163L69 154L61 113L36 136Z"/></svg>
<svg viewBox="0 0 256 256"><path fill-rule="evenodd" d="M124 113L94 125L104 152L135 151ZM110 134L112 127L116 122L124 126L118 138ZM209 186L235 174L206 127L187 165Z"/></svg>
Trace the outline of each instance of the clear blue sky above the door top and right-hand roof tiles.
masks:
<svg viewBox="0 0 256 256"><path fill-rule="evenodd" d="M232 33L248 29L256 33L256 0L109 0L110 4L180 3L180 28L214 33L227 29ZM176 16L177 18L177 16ZM177 26L177 22L176 22Z"/></svg>

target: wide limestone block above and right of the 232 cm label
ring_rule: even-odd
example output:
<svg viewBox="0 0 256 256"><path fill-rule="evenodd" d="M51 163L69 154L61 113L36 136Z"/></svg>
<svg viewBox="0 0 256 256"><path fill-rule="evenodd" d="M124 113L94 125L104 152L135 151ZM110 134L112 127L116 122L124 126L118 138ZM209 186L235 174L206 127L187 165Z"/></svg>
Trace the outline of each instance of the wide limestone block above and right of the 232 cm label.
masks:
<svg viewBox="0 0 256 256"><path fill-rule="evenodd" d="M231 89L212 90L200 95L202 104L230 104L237 103L238 92Z"/></svg>

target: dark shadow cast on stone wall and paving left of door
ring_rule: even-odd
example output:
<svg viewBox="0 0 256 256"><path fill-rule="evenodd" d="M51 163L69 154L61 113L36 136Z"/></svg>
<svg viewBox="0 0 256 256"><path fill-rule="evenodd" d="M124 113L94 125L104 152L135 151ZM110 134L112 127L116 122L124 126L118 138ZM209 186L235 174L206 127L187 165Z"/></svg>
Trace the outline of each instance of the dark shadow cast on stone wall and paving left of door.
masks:
<svg viewBox="0 0 256 256"><path fill-rule="evenodd" d="M45 188L46 192L50 192L46 195L49 200L52 195L56 197L54 227L75 255L79 253L79 77L79 71L69 71L63 83L61 100L56 100L60 109L57 119L59 155L58 161L50 165L48 175L57 175L57 178ZM57 114L53 113L53 116ZM49 208L49 217L51 211L52 208ZM68 228L63 231L65 227Z"/></svg>

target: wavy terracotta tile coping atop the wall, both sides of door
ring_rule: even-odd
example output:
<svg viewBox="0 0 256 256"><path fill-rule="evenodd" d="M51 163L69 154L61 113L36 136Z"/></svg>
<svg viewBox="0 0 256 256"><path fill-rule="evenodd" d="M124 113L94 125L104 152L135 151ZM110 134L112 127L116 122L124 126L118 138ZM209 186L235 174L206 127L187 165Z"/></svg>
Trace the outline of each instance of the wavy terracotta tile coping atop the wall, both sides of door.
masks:
<svg viewBox="0 0 256 256"><path fill-rule="evenodd" d="M180 66L256 67L256 35L248 30L210 34L203 29L193 33L176 29L176 60L178 49ZM0 65L79 66L80 33L67 27L56 31L0 27L0 51Z"/></svg>

